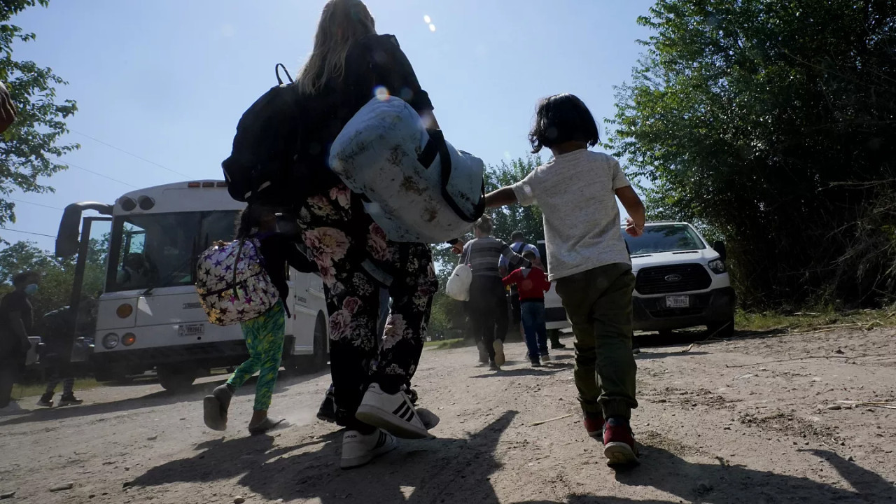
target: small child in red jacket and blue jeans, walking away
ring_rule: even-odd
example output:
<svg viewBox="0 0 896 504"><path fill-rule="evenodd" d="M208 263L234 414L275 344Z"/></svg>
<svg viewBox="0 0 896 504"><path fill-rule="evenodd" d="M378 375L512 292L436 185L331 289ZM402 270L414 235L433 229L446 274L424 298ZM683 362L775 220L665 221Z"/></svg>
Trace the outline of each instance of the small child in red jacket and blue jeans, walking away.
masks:
<svg viewBox="0 0 896 504"><path fill-rule="evenodd" d="M544 266L538 256L524 252L523 258L532 263L531 268L520 268L504 278L504 285L516 285L520 292L520 312L522 328L526 333L526 346L533 367L541 366L541 361L550 361L547 354L547 327L545 326L545 292L551 288ZM540 357L540 359L539 359Z"/></svg>

